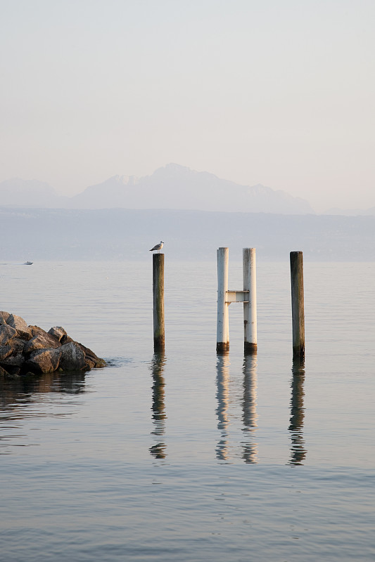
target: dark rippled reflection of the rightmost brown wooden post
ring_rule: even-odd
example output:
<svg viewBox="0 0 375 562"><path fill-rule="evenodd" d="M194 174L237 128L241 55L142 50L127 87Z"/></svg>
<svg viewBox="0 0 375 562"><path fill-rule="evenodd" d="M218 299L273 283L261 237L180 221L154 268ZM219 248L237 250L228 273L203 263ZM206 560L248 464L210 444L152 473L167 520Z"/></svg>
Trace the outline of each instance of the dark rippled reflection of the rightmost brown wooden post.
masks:
<svg viewBox="0 0 375 562"><path fill-rule="evenodd" d="M291 380L291 419L289 431L291 431L291 460L288 464L303 464L307 450L303 440L303 419L305 408L303 406L303 383L305 381L305 362L300 359L293 360Z"/></svg>

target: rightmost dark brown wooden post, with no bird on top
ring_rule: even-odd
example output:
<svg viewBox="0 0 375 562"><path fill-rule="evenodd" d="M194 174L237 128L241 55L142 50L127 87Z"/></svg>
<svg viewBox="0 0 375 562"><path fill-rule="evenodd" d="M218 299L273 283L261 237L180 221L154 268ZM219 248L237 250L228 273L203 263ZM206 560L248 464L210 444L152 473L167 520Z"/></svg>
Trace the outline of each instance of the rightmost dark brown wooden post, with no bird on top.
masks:
<svg viewBox="0 0 375 562"><path fill-rule="evenodd" d="M305 358L305 310L303 301L303 254L291 251L293 358Z"/></svg>

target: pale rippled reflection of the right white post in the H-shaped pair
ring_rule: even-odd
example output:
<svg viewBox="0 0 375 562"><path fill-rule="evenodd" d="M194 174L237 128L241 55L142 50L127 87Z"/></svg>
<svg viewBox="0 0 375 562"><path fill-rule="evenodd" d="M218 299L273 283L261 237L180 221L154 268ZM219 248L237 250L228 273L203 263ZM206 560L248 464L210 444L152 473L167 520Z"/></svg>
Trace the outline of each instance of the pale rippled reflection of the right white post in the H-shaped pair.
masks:
<svg viewBox="0 0 375 562"><path fill-rule="evenodd" d="M255 430L258 428L257 415L257 358L256 355L243 357L243 460L246 464L258 462L258 443L255 443Z"/></svg>

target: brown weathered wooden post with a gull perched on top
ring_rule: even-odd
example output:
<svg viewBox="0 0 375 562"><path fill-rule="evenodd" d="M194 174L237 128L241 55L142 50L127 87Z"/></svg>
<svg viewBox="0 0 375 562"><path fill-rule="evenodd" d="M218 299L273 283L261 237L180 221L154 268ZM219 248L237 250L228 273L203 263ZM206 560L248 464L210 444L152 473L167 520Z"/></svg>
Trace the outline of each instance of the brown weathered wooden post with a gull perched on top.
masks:
<svg viewBox="0 0 375 562"><path fill-rule="evenodd" d="M153 254L153 348L164 347L164 254Z"/></svg>

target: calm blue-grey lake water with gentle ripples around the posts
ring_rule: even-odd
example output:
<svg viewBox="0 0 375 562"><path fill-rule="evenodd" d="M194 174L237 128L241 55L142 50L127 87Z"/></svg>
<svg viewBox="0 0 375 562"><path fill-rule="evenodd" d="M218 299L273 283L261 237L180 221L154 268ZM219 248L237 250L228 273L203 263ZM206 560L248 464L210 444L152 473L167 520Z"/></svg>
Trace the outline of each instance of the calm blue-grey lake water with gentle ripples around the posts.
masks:
<svg viewBox="0 0 375 562"><path fill-rule="evenodd" d="M305 263L291 360L288 256L258 263L258 355L242 309L217 357L216 263L0 266L2 310L108 360L1 382L2 562L374 561L374 263ZM241 263L229 263L241 289Z"/></svg>

